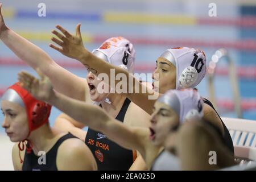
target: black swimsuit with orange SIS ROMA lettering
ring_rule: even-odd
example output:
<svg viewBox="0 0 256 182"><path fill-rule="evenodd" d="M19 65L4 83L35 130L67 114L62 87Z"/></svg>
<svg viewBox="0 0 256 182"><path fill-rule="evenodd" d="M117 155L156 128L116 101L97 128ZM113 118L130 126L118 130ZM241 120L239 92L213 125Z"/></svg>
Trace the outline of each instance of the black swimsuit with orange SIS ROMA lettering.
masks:
<svg viewBox="0 0 256 182"><path fill-rule="evenodd" d="M130 105L130 100L126 98L121 110L119 111L117 119L123 122L125 113ZM92 151L96 159L98 170L122 170L128 171L131 164L134 162L135 154L132 150L127 150L118 144L112 142L99 131L88 129L86 138L86 145Z"/></svg>

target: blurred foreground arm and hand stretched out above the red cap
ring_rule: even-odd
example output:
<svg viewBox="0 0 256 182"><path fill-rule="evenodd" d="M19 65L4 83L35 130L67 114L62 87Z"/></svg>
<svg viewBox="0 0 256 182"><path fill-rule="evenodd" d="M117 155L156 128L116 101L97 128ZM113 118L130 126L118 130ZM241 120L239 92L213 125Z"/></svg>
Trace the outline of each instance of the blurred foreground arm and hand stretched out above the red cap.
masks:
<svg viewBox="0 0 256 182"><path fill-rule="evenodd" d="M55 92L49 79L42 74L40 76L42 80L39 81L34 76L21 72L19 73L19 81L38 100L48 102L93 130L101 131L120 146L130 150L138 150L142 156L145 154L145 143L147 143L145 140L149 135L148 129L125 126L96 105L85 104L85 102Z"/></svg>

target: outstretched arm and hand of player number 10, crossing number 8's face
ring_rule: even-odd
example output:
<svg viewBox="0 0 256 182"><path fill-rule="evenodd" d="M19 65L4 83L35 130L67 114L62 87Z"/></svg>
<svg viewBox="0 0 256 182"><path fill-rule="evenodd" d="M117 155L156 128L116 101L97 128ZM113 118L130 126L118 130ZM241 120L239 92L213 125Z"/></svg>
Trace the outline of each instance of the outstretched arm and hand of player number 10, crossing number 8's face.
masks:
<svg viewBox="0 0 256 182"><path fill-rule="evenodd" d="M52 31L52 33L60 39L52 38L52 41L60 47L54 46L53 44L50 44L50 47L56 49L65 56L79 60L85 65L86 68L94 69L94 71L96 71L94 74L97 76L100 73L106 73L109 78L112 78L110 69L115 69L115 76L118 75L118 73L125 74L127 78L125 84L128 86L127 90L125 90L126 92L122 94L126 94L131 101L145 110L148 114L151 114L154 102L158 98L158 93L155 93L154 90L148 88L146 85L143 85L133 75L129 74L129 72L107 63L85 49L82 44L80 26L81 24L78 24L76 27L76 35L69 34L67 30L59 25L56 26L56 28L59 29L62 34L56 30ZM130 84L131 80L133 82ZM117 85L118 82L119 80L115 80L115 85ZM110 79L108 84L110 85Z"/></svg>

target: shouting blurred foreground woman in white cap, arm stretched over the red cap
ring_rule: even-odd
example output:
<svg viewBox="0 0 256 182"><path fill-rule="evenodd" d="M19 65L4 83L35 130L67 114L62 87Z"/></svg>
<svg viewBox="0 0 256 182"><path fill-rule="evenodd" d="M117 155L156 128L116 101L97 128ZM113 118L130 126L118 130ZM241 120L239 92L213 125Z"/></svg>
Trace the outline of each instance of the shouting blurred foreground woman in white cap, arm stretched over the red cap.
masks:
<svg viewBox="0 0 256 182"><path fill-rule="evenodd" d="M53 91L51 82L44 75L41 80L28 73L19 73L24 88L36 98L54 105L77 121L101 131L109 139L127 149L138 150L148 168L164 148L168 134L174 132L187 119L200 120L203 117L203 101L197 90L168 90L154 105L151 127L129 127L110 117L97 106L73 100ZM72 107L68 107L72 106Z"/></svg>

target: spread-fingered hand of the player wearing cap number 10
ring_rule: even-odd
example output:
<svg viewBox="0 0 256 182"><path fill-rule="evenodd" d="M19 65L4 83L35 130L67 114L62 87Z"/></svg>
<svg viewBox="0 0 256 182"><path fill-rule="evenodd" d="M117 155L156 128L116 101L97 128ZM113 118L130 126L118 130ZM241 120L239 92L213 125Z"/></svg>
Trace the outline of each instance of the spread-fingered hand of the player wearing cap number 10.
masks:
<svg viewBox="0 0 256 182"><path fill-rule="evenodd" d="M80 60L82 57L82 52L86 52L84 45L82 44L82 36L80 31L81 23L76 26L76 35L71 35L67 30L65 30L60 25L56 28L59 29L62 34L56 30L52 31L52 34L56 35L59 39L51 38L59 46L49 44L49 47L59 51L65 56L71 57L73 59Z"/></svg>

